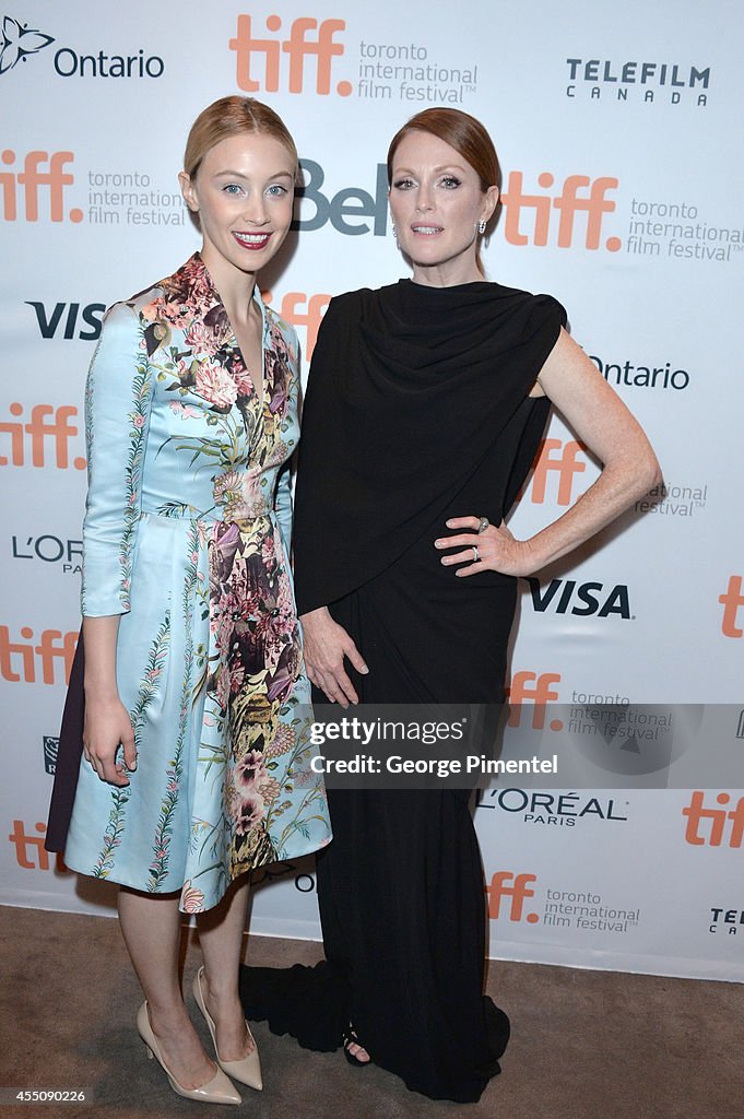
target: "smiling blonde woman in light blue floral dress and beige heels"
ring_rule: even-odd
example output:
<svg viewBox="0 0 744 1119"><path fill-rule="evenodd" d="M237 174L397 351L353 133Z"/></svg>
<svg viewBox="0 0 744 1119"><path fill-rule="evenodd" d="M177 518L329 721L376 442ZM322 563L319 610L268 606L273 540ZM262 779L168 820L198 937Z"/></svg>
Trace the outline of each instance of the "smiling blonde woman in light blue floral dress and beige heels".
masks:
<svg viewBox="0 0 744 1119"><path fill-rule="evenodd" d="M266 105L198 116L179 178L201 250L109 311L86 395L84 745L49 834L72 869L120 883L139 1032L176 1092L215 1103L241 1102L232 1080L262 1087L237 990L248 872L330 838L289 565L298 347L256 282L296 176ZM219 1068L178 981L182 912Z"/></svg>

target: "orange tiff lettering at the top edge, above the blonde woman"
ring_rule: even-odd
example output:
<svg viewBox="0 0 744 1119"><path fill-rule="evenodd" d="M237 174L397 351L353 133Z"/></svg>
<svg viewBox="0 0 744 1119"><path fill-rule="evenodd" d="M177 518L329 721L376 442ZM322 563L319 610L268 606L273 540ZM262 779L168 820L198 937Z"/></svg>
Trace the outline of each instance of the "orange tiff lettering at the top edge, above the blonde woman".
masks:
<svg viewBox="0 0 744 1119"><path fill-rule="evenodd" d="M266 17L266 30L274 35L281 30L280 16ZM335 35L346 30L342 19L317 19L302 16L292 20L289 38L254 38L251 16L237 17L237 32L229 40L230 50L236 56L236 83L246 93L277 93L282 69L282 54L289 56L290 93L304 92L304 66L308 55L316 57L316 93L327 95L331 92L331 65L333 58L343 54L343 45L335 40ZM313 35L311 38L310 35ZM256 55L263 58L263 81L255 77L253 62ZM348 97L354 86L350 82L339 82L336 92L341 97Z"/></svg>

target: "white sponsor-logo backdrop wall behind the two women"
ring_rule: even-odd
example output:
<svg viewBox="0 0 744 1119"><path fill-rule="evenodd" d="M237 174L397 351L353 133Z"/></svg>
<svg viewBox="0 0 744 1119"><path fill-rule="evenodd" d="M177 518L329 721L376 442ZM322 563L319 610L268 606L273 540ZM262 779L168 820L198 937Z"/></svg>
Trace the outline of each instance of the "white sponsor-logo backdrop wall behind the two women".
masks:
<svg viewBox="0 0 744 1119"><path fill-rule="evenodd" d="M0 9L6 904L114 912L110 884L43 848L79 622L84 382L105 307L199 245L177 173L191 121L227 93L267 101L298 140L299 228L263 286L296 327L305 374L331 295L407 274L386 203L393 133L428 105L487 124L503 169L489 279L565 304L666 479L521 584L519 717L538 718L536 700L577 717L587 704L725 704L722 733L744 751L741 6L411 0L401 12L393 0ZM512 529L555 518L595 477L554 416ZM632 749L658 725L637 721ZM597 786L482 796L491 956L744 978L744 792ZM270 868L252 929L319 937L310 861Z"/></svg>

